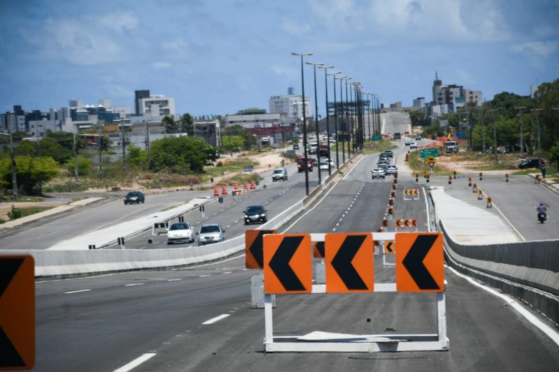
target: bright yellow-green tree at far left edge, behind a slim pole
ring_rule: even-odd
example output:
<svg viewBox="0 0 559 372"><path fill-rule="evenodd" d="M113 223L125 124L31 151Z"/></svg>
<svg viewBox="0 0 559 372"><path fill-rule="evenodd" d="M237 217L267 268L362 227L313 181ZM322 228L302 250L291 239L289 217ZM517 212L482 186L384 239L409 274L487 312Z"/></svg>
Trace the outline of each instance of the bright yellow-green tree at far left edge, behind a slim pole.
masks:
<svg viewBox="0 0 559 372"><path fill-rule="evenodd" d="M48 156L16 156L17 185L27 195L38 192L41 183L50 181L59 174L57 162ZM9 157L0 158L0 181L4 186L12 184L11 161Z"/></svg>

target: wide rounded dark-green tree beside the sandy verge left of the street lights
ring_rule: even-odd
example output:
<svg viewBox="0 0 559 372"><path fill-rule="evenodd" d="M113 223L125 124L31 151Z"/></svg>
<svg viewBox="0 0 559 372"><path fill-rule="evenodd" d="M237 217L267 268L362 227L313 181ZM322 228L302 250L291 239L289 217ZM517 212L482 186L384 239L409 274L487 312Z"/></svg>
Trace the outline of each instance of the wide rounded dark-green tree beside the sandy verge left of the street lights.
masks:
<svg viewBox="0 0 559 372"><path fill-rule="evenodd" d="M217 158L215 147L190 136L155 140L151 144L151 151L150 168L155 172L165 169L180 174L203 172L204 166Z"/></svg>

